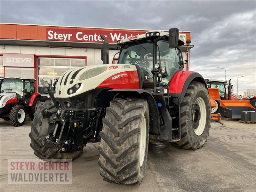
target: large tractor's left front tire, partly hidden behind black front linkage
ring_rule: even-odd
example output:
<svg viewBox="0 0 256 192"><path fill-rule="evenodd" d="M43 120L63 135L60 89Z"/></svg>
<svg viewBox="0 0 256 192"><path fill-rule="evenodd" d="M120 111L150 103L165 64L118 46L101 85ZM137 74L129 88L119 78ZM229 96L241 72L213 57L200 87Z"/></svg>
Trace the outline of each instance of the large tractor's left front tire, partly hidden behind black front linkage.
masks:
<svg viewBox="0 0 256 192"><path fill-rule="evenodd" d="M50 123L50 117L43 118L42 110L44 108L46 108L46 110L52 114L51 117L55 116L58 110L50 100L45 101L43 105L36 105L36 112L34 113L35 118L31 123L31 131L29 133L29 137L31 139L30 147L34 150L34 154L42 160L62 159L62 161L66 161L67 159L72 159L73 161L75 158L78 158L83 153L83 150L69 153L58 153L57 148L40 146L40 132L52 133L55 127L55 123Z"/></svg>

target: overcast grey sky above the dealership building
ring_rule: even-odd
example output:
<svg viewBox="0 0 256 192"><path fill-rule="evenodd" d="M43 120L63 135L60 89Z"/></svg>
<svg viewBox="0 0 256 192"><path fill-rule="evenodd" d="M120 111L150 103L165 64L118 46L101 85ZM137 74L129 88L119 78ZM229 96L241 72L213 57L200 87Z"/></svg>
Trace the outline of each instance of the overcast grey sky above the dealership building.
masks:
<svg viewBox="0 0 256 192"><path fill-rule="evenodd" d="M191 31L190 70L256 89L256 1L3 1L0 22Z"/></svg>

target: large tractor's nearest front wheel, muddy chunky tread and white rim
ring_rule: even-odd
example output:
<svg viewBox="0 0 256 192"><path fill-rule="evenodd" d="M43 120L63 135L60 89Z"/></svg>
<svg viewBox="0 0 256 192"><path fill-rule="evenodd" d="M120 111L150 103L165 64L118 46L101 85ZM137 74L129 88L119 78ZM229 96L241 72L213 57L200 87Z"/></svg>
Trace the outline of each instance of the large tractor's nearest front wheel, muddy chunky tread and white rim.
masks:
<svg viewBox="0 0 256 192"><path fill-rule="evenodd" d="M123 185L140 185L148 156L149 111L142 99L110 102L100 132L100 175Z"/></svg>

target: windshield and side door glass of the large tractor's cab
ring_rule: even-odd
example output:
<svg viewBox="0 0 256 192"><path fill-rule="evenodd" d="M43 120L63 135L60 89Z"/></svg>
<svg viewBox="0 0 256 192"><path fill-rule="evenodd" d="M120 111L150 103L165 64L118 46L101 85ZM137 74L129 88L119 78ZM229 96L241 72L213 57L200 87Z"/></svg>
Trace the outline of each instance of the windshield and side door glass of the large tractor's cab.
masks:
<svg viewBox="0 0 256 192"><path fill-rule="evenodd" d="M151 40L139 40L125 45L119 56L118 63L138 65L144 75L153 78L153 46ZM156 61L166 67L167 77L162 79L161 84L168 84L172 76L180 68L180 56L178 49L170 49L168 41L157 42ZM147 77L148 79L148 77Z"/></svg>

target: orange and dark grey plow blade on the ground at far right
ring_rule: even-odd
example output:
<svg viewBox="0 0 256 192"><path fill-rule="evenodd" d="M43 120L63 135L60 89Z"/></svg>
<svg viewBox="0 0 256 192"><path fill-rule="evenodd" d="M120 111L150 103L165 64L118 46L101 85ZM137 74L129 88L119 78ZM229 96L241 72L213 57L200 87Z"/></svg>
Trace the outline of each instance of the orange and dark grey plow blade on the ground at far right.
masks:
<svg viewBox="0 0 256 192"><path fill-rule="evenodd" d="M221 100L220 114L231 119L240 119L242 111L254 111L249 100Z"/></svg>

